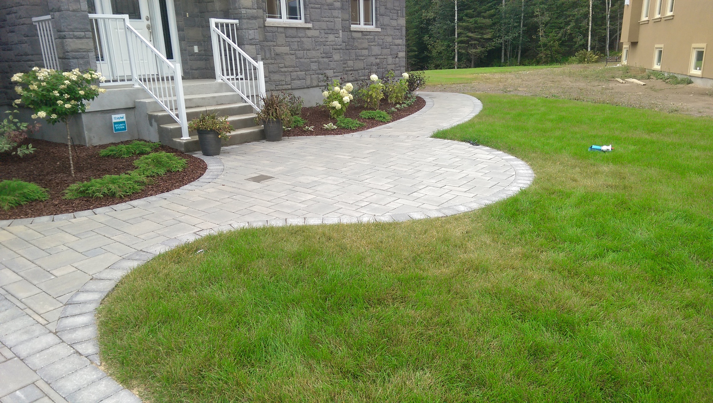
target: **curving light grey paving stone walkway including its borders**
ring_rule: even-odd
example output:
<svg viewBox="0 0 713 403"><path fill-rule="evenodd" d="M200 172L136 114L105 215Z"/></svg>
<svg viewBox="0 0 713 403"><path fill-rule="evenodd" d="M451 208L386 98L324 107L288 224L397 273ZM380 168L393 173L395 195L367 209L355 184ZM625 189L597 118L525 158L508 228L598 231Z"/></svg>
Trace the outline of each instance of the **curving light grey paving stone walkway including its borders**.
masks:
<svg viewBox="0 0 713 403"><path fill-rule="evenodd" d="M527 164L430 135L482 109L423 93L410 117L354 135L224 147L173 192L111 207L0 221L0 402L140 402L98 368L94 312L157 253L246 226L448 216L527 187Z"/></svg>

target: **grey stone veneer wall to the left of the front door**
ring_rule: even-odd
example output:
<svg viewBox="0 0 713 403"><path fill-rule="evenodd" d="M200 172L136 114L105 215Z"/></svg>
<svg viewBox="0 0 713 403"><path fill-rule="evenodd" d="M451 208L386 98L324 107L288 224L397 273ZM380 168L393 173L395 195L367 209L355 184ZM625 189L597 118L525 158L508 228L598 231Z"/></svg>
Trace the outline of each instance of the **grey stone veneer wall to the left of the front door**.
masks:
<svg viewBox="0 0 713 403"><path fill-rule="evenodd" d="M0 105L16 99L10 77L44 67L32 17L52 16L55 46L63 70L96 68L86 0L0 1Z"/></svg>

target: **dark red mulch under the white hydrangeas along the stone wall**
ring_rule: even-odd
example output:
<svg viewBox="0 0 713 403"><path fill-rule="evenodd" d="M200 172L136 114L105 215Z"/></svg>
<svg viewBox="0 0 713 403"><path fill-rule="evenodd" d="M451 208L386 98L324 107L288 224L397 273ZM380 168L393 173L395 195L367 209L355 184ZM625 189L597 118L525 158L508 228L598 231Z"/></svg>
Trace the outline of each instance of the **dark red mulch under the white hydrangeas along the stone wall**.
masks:
<svg viewBox="0 0 713 403"><path fill-rule="evenodd" d="M394 122L394 120L399 120L403 119L406 116L412 115L415 112L418 112L421 110L421 108L424 108L426 106L426 101L424 98L421 97L416 97L416 102L414 102L409 108L404 108L404 109L399 109L396 110L396 112L389 112L389 109L393 107L394 105L391 105L389 103L381 103L381 110L384 110L391 115L391 122ZM294 127L294 129L289 130L287 132L284 132L285 137L294 137L294 136L324 136L324 135L346 135L348 133L354 133L354 132L361 132L361 130L367 130L371 129L372 127L378 127L381 125L386 125L386 123L389 122L379 122L379 120L374 120L374 119L361 119L359 117L359 112L362 110L369 110L368 108L364 108L363 106L356 106L356 105L349 105L349 108L347 108L347 112L344 114L345 117L351 117L352 119L359 120L359 122L364 123L366 126L359 127L359 129L356 130L349 130L349 129L334 129L334 130L327 130L322 127L322 125L326 125L329 122L334 123L335 125L337 124L336 119L332 119L332 117L329 117L329 110L325 106L312 106L310 108L302 108L302 118L304 120L307 120L307 126L314 126L314 131L304 131L302 130L302 127Z"/></svg>

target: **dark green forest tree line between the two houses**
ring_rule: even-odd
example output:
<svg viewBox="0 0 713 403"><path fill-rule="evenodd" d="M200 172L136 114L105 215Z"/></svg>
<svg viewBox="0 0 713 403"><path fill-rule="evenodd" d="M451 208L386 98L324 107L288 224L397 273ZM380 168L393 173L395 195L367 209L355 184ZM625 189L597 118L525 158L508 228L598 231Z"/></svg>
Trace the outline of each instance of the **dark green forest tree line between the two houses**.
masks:
<svg viewBox="0 0 713 403"><path fill-rule="evenodd" d="M406 0L406 60L409 70L433 70L615 54L623 10L624 0Z"/></svg>

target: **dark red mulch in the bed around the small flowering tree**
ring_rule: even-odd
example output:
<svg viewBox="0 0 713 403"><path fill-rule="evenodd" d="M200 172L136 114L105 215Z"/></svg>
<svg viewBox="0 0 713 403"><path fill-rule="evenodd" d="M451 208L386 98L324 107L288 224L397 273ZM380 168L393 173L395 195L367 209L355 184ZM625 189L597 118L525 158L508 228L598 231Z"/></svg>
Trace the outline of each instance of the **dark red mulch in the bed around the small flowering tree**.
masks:
<svg viewBox="0 0 713 403"><path fill-rule="evenodd" d="M146 186L143 191L123 199L116 197L80 197L79 199L66 200L62 199L63 190L70 184L100 178L106 174L123 174L126 171L135 169L133 161L140 155L128 158L99 157L99 150L110 145L73 146L72 157L76 176L72 177L69 172L69 157L66 144L36 139L25 140L25 143L29 142L37 149L34 154L23 158L7 155L6 153L0 154L0 180L22 179L25 182L34 182L41 187L49 189L50 198L46 201L33 201L7 211L0 209L0 220L73 213L155 196L195 181L207 169L207 165L202 159L162 145L155 151L173 152L179 157L185 158L188 162L188 167L181 172L169 172L163 177L155 177L153 184ZM125 143L128 142L115 144Z"/></svg>

